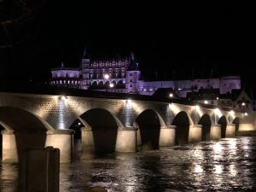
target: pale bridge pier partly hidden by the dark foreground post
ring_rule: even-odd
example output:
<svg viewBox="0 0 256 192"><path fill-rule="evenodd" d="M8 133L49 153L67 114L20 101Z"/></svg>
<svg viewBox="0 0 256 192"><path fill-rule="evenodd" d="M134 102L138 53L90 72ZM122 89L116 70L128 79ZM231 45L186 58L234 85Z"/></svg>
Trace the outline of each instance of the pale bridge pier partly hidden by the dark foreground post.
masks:
<svg viewBox="0 0 256 192"><path fill-rule="evenodd" d="M48 131L45 147L60 149L61 163L70 163L73 159L73 130Z"/></svg>

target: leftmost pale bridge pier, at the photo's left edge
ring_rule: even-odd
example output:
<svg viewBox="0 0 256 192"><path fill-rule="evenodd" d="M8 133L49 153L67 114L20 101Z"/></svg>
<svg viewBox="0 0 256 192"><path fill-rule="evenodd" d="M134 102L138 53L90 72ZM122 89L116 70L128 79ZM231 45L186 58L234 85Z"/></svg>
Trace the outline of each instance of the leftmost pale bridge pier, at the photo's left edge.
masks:
<svg viewBox="0 0 256 192"><path fill-rule="evenodd" d="M4 130L2 147L2 161L3 163L18 163L18 150L14 131Z"/></svg>

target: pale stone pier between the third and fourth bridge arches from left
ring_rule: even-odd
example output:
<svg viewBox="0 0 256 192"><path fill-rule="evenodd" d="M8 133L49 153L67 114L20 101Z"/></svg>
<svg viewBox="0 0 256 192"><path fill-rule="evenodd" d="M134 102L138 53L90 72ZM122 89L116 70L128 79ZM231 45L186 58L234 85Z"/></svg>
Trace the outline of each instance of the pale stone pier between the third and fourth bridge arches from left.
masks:
<svg viewBox="0 0 256 192"><path fill-rule="evenodd" d="M175 145L175 125L160 127L159 147L171 147Z"/></svg>

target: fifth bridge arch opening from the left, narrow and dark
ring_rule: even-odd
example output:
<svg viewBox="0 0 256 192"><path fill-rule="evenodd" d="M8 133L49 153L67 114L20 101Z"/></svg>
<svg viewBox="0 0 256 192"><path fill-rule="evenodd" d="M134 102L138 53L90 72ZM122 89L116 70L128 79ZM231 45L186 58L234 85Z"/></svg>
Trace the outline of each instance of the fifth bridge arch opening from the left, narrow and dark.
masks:
<svg viewBox="0 0 256 192"><path fill-rule="evenodd" d="M203 114L198 124L202 125L201 140L202 141L210 140L210 131L212 126L212 119L210 115L207 113Z"/></svg>

